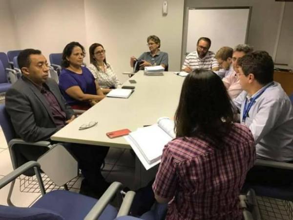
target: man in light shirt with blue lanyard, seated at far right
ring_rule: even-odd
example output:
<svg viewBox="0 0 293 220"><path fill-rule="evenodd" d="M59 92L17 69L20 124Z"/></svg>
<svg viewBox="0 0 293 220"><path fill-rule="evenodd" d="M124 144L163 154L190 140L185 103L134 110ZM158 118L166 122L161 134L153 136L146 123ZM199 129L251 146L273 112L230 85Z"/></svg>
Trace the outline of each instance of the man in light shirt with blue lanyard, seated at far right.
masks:
<svg viewBox="0 0 293 220"><path fill-rule="evenodd" d="M256 156L293 162L293 106L281 85L273 81L274 65L266 51L254 51L237 61L237 77L244 90L234 99L240 122L253 134ZM290 185L293 171L254 166L249 183Z"/></svg>

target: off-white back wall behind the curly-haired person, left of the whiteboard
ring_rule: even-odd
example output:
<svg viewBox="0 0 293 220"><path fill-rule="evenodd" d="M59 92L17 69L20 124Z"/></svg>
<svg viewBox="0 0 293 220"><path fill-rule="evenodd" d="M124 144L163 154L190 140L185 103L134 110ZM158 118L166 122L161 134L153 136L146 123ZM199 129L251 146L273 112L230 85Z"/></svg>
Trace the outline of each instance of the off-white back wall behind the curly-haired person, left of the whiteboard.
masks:
<svg viewBox="0 0 293 220"><path fill-rule="evenodd" d="M169 70L180 69L184 0L168 0L168 15L162 15L163 0L84 0L87 48L103 44L107 62L120 79L130 71L130 56L148 51L146 38L157 35L161 50L169 55Z"/></svg>

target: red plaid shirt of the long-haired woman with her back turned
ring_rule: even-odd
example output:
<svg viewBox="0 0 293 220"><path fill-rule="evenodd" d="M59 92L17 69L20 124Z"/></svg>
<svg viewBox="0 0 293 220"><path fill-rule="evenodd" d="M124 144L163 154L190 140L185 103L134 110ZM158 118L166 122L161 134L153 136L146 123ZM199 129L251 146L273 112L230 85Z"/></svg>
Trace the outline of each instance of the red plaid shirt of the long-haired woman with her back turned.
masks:
<svg viewBox="0 0 293 220"><path fill-rule="evenodd" d="M250 130L234 124L217 149L209 138L185 137L164 148L153 191L168 220L240 220L239 193L256 158Z"/></svg>

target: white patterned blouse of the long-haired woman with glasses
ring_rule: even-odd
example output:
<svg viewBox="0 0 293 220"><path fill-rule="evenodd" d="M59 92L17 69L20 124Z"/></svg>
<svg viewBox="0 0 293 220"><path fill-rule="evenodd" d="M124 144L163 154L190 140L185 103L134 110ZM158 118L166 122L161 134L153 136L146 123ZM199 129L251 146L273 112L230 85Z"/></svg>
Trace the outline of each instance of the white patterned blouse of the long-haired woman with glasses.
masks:
<svg viewBox="0 0 293 220"><path fill-rule="evenodd" d="M91 71L93 76L95 77L96 81L98 82L101 88L117 88L120 86L120 82L115 74L112 66L107 63L108 66L105 66L105 72L100 69L98 70L96 66L90 64L88 69Z"/></svg>

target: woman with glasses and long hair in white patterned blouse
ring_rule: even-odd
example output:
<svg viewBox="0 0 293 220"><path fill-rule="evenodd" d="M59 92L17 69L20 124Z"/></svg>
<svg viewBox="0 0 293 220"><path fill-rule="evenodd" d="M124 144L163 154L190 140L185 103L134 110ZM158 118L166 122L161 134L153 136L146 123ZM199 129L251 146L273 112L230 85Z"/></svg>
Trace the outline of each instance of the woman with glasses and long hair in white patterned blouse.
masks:
<svg viewBox="0 0 293 220"><path fill-rule="evenodd" d="M112 66L106 62L105 49L102 44L92 44L89 47L89 70L99 83L104 93L108 93L111 88L120 86L120 82Z"/></svg>

